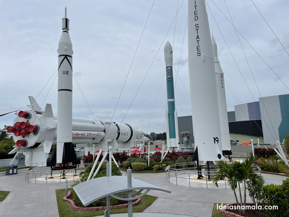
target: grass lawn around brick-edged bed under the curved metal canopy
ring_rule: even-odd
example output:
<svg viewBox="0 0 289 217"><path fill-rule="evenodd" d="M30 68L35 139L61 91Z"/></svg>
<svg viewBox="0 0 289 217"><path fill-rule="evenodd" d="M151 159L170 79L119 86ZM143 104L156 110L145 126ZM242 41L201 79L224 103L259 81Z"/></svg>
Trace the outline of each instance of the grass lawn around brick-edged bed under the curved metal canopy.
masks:
<svg viewBox="0 0 289 217"><path fill-rule="evenodd" d="M72 190L72 188L69 188ZM65 189L56 190L56 199L58 205L58 213L60 217L92 217L92 216L103 216L104 211L75 211L70 208L68 202L63 201L63 197L66 195ZM133 212L143 212L147 207L149 207L157 197L144 195L141 197L141 202L139 205L133 206ZM110 214L127 213L127 208L121 209L111 209Z"/></svg>

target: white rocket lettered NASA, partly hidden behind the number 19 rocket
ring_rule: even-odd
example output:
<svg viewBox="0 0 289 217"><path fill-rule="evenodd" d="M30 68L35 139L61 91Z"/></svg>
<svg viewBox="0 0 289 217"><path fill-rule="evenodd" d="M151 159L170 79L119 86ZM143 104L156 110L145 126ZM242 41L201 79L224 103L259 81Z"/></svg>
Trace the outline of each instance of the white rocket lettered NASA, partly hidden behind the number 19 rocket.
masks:
<svg viewBox="0 0 289 217"><path fill-rule="evenodd" d="M221 141L222 141L222 152L223 155L231 155L231 143L229 134L228 114L227 114L227 102L225 93L225 78L221 68L218 53L217 44L212 36L212 47L215 62L215 74L216 74L216 85L217 85L217 96L218 96L218 107L220 117L220 129L221 129Z"/></svg>

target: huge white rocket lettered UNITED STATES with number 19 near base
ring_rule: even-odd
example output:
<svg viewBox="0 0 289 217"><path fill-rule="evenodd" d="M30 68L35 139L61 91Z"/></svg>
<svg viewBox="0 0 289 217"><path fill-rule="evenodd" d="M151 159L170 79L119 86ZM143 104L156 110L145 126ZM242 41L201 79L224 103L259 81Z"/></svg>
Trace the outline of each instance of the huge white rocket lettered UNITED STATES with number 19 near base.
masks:
<svg viewBox="0 0 289 217"><path fill-rule="evenodd" d="M205 0L188 1L188 65L199 161L222 158L214 57Z"/></svg>

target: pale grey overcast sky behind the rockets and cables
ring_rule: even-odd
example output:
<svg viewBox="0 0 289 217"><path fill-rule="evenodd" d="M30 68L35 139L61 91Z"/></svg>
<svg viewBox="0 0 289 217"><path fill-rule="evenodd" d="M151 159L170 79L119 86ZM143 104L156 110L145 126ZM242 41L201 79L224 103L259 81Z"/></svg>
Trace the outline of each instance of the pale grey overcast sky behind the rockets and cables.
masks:
<svg viewBox="0 0 289 217"><path fill-rule="evenodd" d="M213 1L229 18L224 1ZM242 103L258 101L260 94L234 27L216 8L213 1L207 0L207 3L253 97L207 8L210 29L218 46L218 57L225 79ZM147 74L123 122L141 128L145 133L164 132L166 83L163 77L165 70L163 49L166 41L173 45L173 63L174 67L179 69L179 77L176 77L177 73L173 68L178 116L191 115L191 102L187 93L187 91L190 93L187 29L185 32L188 1L185 0L181 5L182 2L182 0L155 0L153 4L152 0L0 1L0 108L28 105L28 95L35 98L56 71L58 41L62 33L61 20L66 6L74 51L73 71L95 118L110 121L153 4L112 121L122 122ZM286 0L253 0L253 2L289 51L289 2ZM289 56L251 0L226 0L226 3L236 28L289 87ZM175 27L173 20L177 4L179 13ZM247 42L239 37L262 97L288 94L285 85ZM52 104L53 113L57 114L57 79L51 86L54 78L55 76L36 101L42 105L42 109L46 103ZM234 100L227 87L226 98L228 111L234 111L234 105L241 103L237 98L238 102ZM13 114L0 117L0 128L4 124L11 125L14 117ZM73 117L92 118L75 82Z"/></svg>

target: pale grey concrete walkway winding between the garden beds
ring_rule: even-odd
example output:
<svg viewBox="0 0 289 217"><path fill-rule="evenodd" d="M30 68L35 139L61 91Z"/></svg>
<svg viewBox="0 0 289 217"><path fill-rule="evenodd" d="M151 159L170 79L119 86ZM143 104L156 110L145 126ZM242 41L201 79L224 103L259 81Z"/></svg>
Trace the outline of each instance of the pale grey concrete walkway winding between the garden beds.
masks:
<svg viewBox="0 0 289 217"><path fill-rule="evenodd" d="M262 175L266 180L266 184L281 184L282 180L286 179L284 176ZM150 191L149 194L157 196L158 199L144 210L144 213L134 213L136 217L182 217L181 215L210 217L212 216L214 203L235 201L233 192L228 188L206 189L175 185L168 183L165 173L133 173L132 177L172 192L168 194ZM68 184L70 185L72 182ZM63 188L65 188L65 183L27 183L25 182L25 173L0 176L0 190L10 191L5 200L0 203L0 217L58 217L55 190ZM247 201L251 201L249 197ZM123 217L127 214L112 216Z"/></svg>

